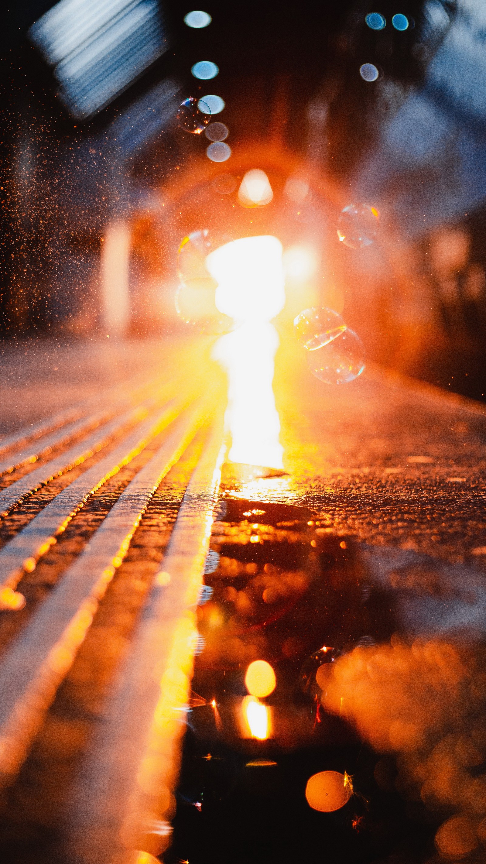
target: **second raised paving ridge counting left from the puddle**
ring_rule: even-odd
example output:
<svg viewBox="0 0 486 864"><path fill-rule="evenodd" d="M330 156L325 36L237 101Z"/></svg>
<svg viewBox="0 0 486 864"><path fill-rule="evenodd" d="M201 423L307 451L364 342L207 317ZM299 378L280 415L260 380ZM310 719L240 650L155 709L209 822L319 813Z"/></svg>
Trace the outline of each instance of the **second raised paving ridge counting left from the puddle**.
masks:
<svg viewBox="0 0 486 864"><path fill-rule="evenodd" d="M14 781L143 512L202 422L200 403L176 422L159 451L129 483L89 545L4 654L0 666L0 785Z"/></svg>

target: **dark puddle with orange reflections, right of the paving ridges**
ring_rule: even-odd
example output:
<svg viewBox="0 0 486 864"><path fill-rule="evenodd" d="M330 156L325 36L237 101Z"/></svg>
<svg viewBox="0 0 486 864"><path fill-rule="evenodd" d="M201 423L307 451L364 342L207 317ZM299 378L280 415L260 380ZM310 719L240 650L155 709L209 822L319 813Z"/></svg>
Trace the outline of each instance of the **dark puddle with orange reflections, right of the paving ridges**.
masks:
<svg viewBox="0 0 486 864"><path fill-rule="evenodd" d="M223 500L211 547L165 860L481 854L480 571L243 499Z"/></svg>

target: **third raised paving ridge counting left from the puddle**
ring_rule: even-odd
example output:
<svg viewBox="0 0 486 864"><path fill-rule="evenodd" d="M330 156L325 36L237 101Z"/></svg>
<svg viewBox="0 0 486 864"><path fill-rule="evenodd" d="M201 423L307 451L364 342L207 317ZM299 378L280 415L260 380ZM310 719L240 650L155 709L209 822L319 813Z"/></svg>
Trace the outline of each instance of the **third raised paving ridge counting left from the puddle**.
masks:
<svg viewBox="0 0 486 864"><path fill-rule="evenodd" d="M155 435L160 435L174 422L186 408L186 403L187 400L174 400L156 421L151 416L142 422L115 450L73 480L25 528L5 543L0 550L0 610L16 611L24 607L25 598L16 591L22 576L26 572L32 573L39 558L57 542L57 537L94 492L141 453Z"/></svg>

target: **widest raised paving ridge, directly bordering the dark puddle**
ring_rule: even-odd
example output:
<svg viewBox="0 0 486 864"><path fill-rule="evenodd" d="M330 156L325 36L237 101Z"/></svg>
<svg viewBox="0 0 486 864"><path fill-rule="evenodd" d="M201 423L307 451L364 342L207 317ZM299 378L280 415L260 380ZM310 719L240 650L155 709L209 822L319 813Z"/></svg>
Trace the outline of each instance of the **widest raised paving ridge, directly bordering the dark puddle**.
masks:
<svg viewBox="0 0 486 864"><path fill-rule="evenodd" d="M105 706L103 725L76 778L65 835L66 848L75 849L80 861L114 861L123 846L156 856L170 842L168 819L198 636L195 609L225 453L221 415L186 488L161 572L120 670L123 685Z"/></svg>

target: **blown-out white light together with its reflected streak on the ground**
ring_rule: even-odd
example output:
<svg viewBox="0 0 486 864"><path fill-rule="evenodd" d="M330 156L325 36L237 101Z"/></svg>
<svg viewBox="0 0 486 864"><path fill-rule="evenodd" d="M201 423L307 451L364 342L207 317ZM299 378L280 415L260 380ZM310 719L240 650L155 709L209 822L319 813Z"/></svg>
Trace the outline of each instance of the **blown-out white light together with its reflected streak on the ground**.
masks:
<svg viewBox="0 0 486 864"><path fill-rule="evenodd" d="M218 310L237 325L213 349L213 357L225 366L229 378L229 458L272 468L283 467L272 388L279 340L270 324L285 302L281 252L275 237L246 237L206 258L207 269L218 282Z"/></svg>

